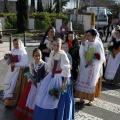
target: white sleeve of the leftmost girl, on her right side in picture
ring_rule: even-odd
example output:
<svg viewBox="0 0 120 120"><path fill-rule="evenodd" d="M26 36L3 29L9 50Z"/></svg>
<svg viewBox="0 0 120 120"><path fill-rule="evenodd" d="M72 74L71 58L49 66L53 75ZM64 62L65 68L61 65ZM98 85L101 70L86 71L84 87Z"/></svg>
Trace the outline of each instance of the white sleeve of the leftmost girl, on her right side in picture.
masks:
<svg viewBox="0 0 120 120"><path fill-rule="evenodd" d="M21 54L21 59L19 62L15 63L16 67L26 67L28 66L29 62L28 62L28 55L27 53L22 53Z"/></svg>

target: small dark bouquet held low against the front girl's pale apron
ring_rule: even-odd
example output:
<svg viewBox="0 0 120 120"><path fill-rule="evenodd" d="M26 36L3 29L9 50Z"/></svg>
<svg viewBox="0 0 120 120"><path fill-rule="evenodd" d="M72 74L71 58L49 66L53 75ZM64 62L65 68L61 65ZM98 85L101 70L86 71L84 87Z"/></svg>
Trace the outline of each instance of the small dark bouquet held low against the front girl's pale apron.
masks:
<svg viewBox="0 0 120 120"><path fill-rule="evenodd" d="M66 85L66 89L69 88L69 87L71 87L71 86L73 86L75 83L76 83L76 81L73 81L71 84ZM60 89L53 88L53 89L51 89L51 90L49 91L49 94L50 94L51 96L53 96L54 99L58 99L60 93L64 94L65 91L66 91L66 90L62 91L61 88L60 88Z"/></svg>

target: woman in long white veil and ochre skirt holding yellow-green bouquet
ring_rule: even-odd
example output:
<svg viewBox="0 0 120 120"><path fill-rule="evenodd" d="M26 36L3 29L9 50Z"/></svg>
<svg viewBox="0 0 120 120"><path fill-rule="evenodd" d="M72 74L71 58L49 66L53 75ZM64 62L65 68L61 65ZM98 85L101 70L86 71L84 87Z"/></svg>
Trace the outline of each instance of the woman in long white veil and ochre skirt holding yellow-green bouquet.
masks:
<svg viewBox="0 0 120 120"><path fill-rule="evenodd" d="M102 80L100 70L105 55L103 45L94 29L87 31L87 39L80 52L80 71L75 85L75 97L89 100L88 105L92 105L94 98L100 95Z"/></svg>

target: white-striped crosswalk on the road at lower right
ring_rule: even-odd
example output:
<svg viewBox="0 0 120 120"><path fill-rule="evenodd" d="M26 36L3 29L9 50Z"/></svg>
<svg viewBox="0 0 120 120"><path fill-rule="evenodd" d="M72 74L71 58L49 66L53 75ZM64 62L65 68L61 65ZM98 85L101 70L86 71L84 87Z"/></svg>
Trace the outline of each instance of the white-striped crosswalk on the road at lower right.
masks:
<svg viewBox="0 0 120 120"><path fill-rule="evenodd" d="M94 106L76 106L75 120L120 120L120 86L105 86Z"/></svg>

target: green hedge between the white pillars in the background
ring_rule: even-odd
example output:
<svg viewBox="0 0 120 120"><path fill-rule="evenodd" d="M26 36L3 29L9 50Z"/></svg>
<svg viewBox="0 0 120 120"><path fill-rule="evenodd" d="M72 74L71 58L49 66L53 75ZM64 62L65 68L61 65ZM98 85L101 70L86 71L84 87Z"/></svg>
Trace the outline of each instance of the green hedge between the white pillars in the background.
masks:
<svg viewBox="0 0 120 120"><path fill-rule="evenodd" d="M17 29L17 16L13 13L3 14L5 17L5 29ZM61 18L63 24L67 24L68 18L64 14L56 13L32 13L30 17L35 18L35 29L46 30L50 26L55 26L56 18Z"/></svg>

